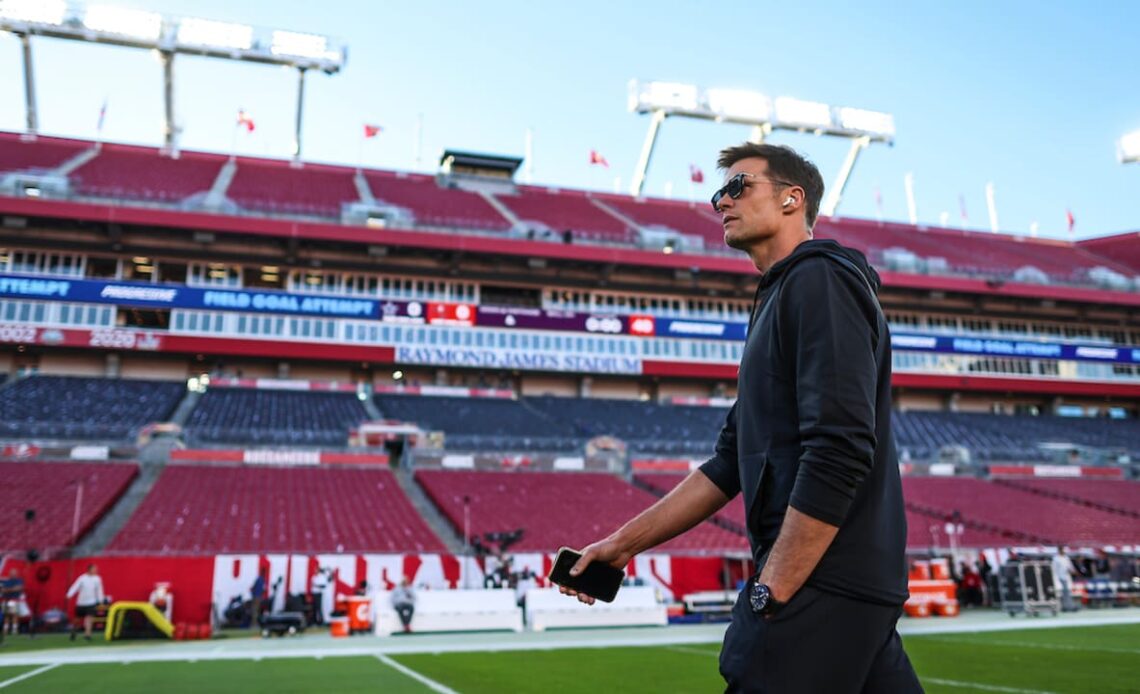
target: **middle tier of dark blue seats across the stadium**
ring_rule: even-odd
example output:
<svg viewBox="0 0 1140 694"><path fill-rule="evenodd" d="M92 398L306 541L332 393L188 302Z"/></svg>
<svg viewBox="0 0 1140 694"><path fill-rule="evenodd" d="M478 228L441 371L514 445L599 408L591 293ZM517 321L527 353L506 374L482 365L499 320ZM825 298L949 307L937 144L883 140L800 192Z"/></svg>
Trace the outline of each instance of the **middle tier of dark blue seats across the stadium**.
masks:
<svg viewBox="0 0 1140 694"><path fill-rule="evenodd" d="M127 439L169 419L185 394L177 382L33 376L0 391L0 435ZM377 394L382 416L443 431L453 450L570 451L598 435L626 441L635 456L703 457L724 423L723 408L638 400ZM192 442L340 447L368 419L353 393L213 389L186 423ZM1041 443L1116 449L1140 457L1132 419L896 411L896 443L912 459L963 446L976 459L1048 462Z"/></svg>

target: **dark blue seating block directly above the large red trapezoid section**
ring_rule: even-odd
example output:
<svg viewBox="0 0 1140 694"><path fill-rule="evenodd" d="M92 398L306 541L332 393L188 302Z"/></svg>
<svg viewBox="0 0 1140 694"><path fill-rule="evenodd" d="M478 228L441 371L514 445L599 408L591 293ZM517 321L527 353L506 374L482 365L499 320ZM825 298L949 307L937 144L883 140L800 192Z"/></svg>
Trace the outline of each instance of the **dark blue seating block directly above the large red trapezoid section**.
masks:
<svg viewBox="0 0 1140 694"><path fill-rule="evenodd" d="M355 393L212 389L186 430L192 440L211 443L341 447L367 418Z"/></svg>

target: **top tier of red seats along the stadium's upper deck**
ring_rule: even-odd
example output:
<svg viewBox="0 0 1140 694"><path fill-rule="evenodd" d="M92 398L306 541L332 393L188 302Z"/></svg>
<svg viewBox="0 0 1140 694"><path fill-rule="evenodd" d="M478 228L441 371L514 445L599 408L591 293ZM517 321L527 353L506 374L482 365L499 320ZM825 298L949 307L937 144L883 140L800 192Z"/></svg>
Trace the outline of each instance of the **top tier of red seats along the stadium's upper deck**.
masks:
<svg viewBox="0 0 1140 694"><path fill-rule="evenodd" d="M83 140L0 133L0 173L46 172L84 150L95 156L71 172L75 189L88 196L185 201L209 190L227 157L181 153L171 158L157 148L106 144L97 150ZM356 170L323 164L296 165L277 160L237 157L227 197L238 206L266 213L306 214L337 219L345 203L359 202ZM408 211L413 223L480 232L506 232L512 220L483 196L441 185L434 177L391 171L365 171L364 180L377 203ZM523 226L545 227L583 240L634 244L637 227L667 227L722 248L720 220L706 203L633 198L583 190L518 186L494 198ZM1070 244L959 229L919 229L906 224L861 220L820 220L819 238L833 238L882 263L891 248L920 259L937 258L952 272L1009 277L1032 266L1061 281L1088 281L1089 271L1106 267L1125 277L1140 275L1134 238L1121 236Z"/></svg>

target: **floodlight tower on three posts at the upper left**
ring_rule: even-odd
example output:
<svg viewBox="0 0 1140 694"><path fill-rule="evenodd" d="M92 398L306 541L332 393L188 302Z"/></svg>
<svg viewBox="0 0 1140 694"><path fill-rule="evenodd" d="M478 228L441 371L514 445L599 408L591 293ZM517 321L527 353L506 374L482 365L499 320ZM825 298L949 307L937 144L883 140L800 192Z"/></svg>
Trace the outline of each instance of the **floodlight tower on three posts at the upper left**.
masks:
<svg viewBox="0 0 1140 694"><path fill-rule="evenodd" d="M33 35L107 43L156 51L163 73L163 137L173 148L174 56L209 56L227 60L285 65L298 71L296 124L293 156L301 156L301 112L304 74L319 70L335 74L344 66L343 43L317 34L254 27L229 22L173 17L105 5L82 6L65 0L0 0L0 31L19 38L24 54L24 100L27 131L39 130L35 82L32 75Z"/></svg>

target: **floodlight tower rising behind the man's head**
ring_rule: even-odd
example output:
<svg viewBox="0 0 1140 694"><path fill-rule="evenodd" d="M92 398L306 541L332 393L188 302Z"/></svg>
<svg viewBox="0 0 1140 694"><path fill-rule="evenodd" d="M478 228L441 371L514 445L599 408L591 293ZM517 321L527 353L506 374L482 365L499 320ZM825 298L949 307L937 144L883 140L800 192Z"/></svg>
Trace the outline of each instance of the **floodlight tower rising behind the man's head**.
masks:
<svg viewBox="0 0 1140 694"><path fill-rule="evenodd" d="M895 117L889 113L847 106L801 101L791 97L771 98L741 89L700 89L675 82L629 82L629 111L652 114L649 133L634 172L633 195L641 195L657 137L668 116L684 116L752 126L751 140L762 142L773 130L795 130L847 138L852 141L836 182L831 186L822 213L831 217L839 209L844 188L850 179L860 153L871 142L895 141Z"/></svg>

